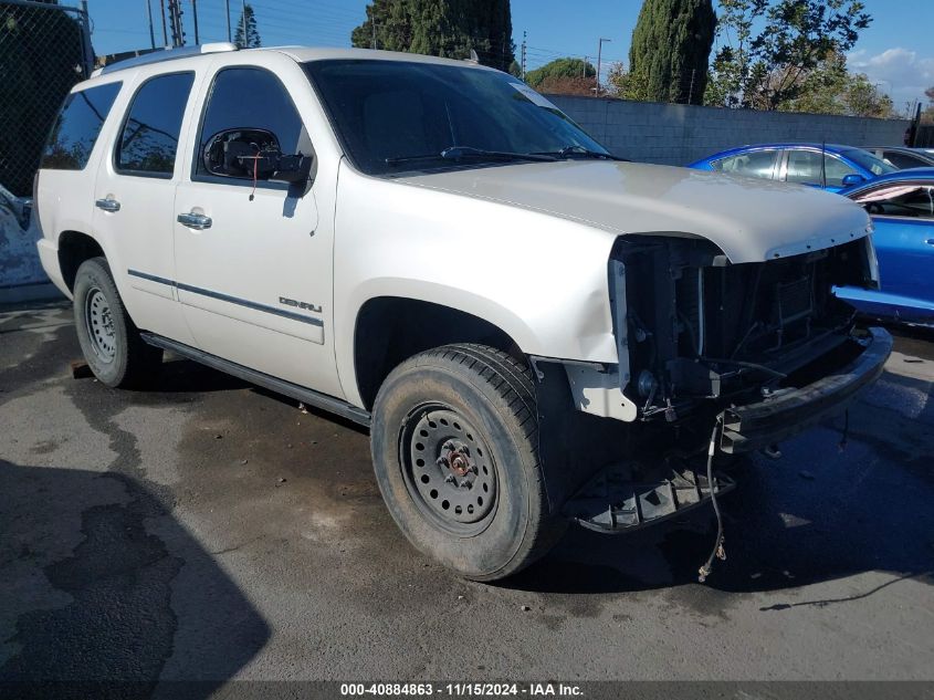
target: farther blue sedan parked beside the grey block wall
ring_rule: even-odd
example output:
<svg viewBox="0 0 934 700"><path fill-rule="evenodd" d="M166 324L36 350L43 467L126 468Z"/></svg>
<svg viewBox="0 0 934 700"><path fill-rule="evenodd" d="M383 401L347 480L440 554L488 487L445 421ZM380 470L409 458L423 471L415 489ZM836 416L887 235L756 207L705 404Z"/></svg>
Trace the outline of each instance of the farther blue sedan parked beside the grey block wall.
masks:
<svg viewBox="0 0 934 700"><path fill-rule="evenodd" d="M821 154L823 157L821 158ZM821 159L823 167L821 168ZM898 168L868 150L838 144L758 144L697 160L696 170L735 173L783 182L800 182L837 192Z"/></svg>

